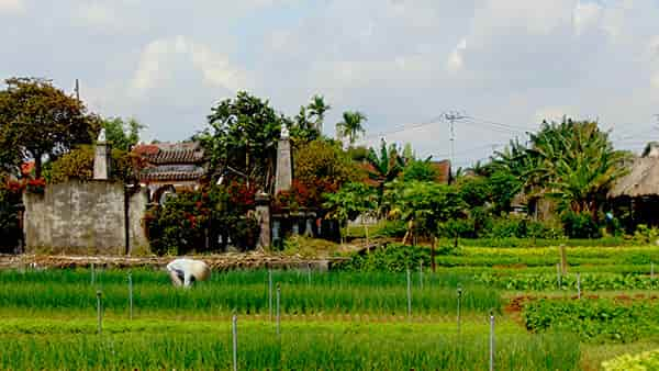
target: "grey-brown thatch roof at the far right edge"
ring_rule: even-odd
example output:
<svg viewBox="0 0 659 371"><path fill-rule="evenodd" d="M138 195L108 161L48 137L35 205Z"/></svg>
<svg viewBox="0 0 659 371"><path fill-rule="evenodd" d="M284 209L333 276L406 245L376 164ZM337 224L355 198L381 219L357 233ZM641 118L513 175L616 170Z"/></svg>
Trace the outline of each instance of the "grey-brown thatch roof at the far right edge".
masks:
<svg viewBox="0 0 659 371"><path fill-rule="evenodd" d="M649 144L643 157L634 160L626 177L608 192L610 198L659 195L659 145Z"/></svg>

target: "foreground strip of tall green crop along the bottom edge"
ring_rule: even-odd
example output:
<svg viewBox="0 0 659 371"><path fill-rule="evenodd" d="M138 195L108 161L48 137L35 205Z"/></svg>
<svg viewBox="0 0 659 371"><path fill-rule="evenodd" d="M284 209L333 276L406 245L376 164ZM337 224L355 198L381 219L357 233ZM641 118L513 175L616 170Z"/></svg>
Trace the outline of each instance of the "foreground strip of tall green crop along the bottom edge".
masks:
<svg viewBox="0 0 659 371"><path fill-rule="evenodd" d="M232 364L228 322L114 322L100 336L90 334L92 321L14 321L1 326L1 369L230 369ZM272 324L241 321L238 368L483 370L487 326L484 321L469 324L458 337L434 325L284 323L278 337ZM496 369L578 368L579 347L571 345L569 335L532 336L501 327Z"/></svg>

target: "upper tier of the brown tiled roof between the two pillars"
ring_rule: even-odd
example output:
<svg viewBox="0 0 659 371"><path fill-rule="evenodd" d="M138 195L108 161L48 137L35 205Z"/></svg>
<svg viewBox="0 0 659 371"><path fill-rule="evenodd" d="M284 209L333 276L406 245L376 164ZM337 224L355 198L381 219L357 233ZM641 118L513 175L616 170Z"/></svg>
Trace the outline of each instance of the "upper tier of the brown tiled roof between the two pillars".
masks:
<svg viewBox="0 0 659 371"><path fill-rule="evenodd" d="M133 150L153 165L203 161L203 148L199 142L143 144L135 146Z"/></svg>

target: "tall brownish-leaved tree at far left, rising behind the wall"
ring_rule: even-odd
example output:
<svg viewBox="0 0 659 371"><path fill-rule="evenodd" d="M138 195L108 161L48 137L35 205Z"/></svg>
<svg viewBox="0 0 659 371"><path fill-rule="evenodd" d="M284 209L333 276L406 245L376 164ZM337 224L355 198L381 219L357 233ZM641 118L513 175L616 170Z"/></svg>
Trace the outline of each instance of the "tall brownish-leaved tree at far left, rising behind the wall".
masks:
<svg viewBox="0 0 659 371"><path fill-rule="evenodd" d="M0 91L0 148L11 148L16 155L1 156L5 167L33 159L40 178L44 157L54 158L75 144L91 143L98 134L99 120L51 81L11 78L5 83L7 89Z"/></svg>

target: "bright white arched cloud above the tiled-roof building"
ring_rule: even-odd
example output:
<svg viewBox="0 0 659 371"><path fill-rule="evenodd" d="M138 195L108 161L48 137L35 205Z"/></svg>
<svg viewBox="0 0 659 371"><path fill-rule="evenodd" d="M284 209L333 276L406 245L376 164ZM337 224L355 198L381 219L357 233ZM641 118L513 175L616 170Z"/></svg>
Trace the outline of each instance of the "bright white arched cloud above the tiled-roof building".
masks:
<svg viewBox="0 0 659 371"><path fill-rule="evenodd" d="M227 56L179 35L146 45L131 82L132 94L143 97L149 90L174 81L179 68L200 72L203 82L210 86L235 91L247 85L246 74L232 66Z"/></svg>

